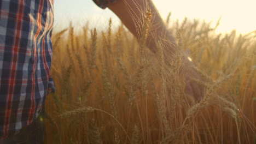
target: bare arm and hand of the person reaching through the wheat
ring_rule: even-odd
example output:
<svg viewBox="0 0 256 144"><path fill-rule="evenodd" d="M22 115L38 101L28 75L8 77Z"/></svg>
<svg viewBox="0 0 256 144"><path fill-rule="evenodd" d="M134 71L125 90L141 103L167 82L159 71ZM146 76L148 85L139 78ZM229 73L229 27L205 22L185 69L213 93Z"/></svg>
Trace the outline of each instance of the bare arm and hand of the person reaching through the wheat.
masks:
<svg viewBox="0 0 256 144"><path fill-rule="evenodd" d="M145 6L147 5L147 7ZM162 21L158 10L155 8L154 3L151 0L119 0L117 3L109 4L108 8L112 10L129 29L129 31L135 35L137 39L140 38L139 28L143 27L143 13L148 8L152 11L152 27L147 40L147 47L156 52L155 38L161 40L165 62L170 62L173 53L178 50L177 43L173 35L167 30L165 23ZM198 85L196 82L191 81L191 77L194 79L200 79L201 77L191 67L193 63L189 62L187 58L181 68L181 73L185 74L187 86L185 92L192 95L195 99L200 100L203 96L205 88Z"/></svg>

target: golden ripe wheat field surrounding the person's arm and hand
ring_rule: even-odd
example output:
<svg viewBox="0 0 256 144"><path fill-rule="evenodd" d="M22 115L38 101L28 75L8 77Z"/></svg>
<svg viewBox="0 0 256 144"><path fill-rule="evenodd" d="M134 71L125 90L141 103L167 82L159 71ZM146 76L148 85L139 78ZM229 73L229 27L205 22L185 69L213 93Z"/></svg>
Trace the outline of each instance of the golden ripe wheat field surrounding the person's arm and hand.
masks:
<svg viewBox="0 0 256 144"><path fill-rule="evenodd" d="M45 143L255 143L256 31L169 21L205 79L194 80L206 87L201 101L184 93L179 53L167 66L161 45L156 55L142 49L123 25L75 33L71 24L53 35Z"/></svg>

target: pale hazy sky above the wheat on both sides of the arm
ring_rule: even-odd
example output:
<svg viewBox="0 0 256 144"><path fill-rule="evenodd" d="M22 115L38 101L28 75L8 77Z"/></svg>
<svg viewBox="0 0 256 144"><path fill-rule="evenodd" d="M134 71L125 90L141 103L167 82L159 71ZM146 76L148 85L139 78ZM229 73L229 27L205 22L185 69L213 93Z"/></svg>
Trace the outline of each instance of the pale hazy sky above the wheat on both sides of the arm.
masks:
<svg viewBox="0 0 256 144"><path fill-rule="evenodd" d="M129 0L127 0L129 1ZM216 21L222 16L217 32L248 33L256 30L256 0L153 0L161 16L166 19L171 11L171 19L206 19ZM114 25L120 20L109 9L100 9L92 0L55 0L55 28L69 25L83 26L90 21L91 27L107 28L109 17Z"/></svg>

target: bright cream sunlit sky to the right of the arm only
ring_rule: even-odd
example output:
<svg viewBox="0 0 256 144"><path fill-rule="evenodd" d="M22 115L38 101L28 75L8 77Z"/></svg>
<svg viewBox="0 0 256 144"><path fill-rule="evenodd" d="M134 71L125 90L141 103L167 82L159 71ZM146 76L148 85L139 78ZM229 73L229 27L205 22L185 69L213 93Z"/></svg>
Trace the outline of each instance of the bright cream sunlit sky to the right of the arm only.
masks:
<svg viewBox="0 0 256 144"><path fill-rule="evenodd" d="M186 16L189 19L217 22L219 17L222 17L217 32L230 32L232 29L237 29L237 32L248 33L256 30L255 0L153 0L153 2L164 18L170 11L172 19L183 19Z"/></svg>

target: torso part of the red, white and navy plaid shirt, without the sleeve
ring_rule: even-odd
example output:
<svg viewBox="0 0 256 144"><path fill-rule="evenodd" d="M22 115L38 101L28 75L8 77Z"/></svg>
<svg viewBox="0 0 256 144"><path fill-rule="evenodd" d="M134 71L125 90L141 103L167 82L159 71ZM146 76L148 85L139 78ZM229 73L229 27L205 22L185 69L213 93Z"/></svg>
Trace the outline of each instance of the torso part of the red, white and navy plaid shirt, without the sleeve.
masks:
<svg viewBox="0 0 256 144"><path fill-rule="evenodd" d="M35 119L51 67L53 0L0 1L0 139Z"/></svg>

